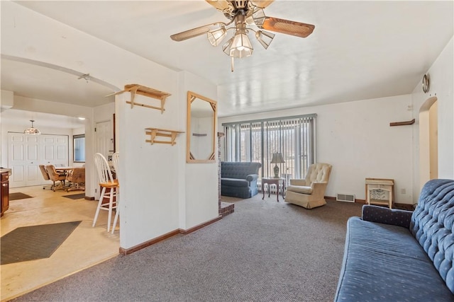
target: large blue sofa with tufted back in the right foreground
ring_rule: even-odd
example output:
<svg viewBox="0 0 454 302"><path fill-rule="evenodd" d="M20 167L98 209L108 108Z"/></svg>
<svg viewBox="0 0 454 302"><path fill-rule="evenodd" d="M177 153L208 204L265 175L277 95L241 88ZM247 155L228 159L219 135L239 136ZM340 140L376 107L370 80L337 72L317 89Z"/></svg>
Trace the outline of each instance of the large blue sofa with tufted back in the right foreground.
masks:
<svg viewBox="0 0 454 302"><path fill-rule="evenodd" d="M454 180L424 185L412 211L350 217L334 301L454 301Z"/></svg>

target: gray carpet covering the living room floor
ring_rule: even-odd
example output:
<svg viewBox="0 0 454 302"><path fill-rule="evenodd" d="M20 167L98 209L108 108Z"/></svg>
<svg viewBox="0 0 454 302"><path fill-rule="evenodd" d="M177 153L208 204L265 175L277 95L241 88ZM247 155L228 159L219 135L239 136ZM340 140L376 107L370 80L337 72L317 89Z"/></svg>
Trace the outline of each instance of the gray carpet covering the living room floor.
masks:
<svg viewBox="0 0 454 302"><path fill-rule="evenodd" d="M260 194L189 235L118 256L14 301L333 301L360 204L303 209Z"/></svg>

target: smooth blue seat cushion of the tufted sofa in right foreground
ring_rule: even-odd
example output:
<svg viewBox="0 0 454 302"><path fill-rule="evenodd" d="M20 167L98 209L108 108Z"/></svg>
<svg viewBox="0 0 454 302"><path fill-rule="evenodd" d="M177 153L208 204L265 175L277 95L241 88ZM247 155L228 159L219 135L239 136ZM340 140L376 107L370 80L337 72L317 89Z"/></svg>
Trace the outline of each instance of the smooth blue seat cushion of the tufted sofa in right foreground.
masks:
<svg viewBox="0 0 454 302"><path fill-rule="evenodd" d="M335 301L453 300L408 228L350 218L343 262Z"/></svg>

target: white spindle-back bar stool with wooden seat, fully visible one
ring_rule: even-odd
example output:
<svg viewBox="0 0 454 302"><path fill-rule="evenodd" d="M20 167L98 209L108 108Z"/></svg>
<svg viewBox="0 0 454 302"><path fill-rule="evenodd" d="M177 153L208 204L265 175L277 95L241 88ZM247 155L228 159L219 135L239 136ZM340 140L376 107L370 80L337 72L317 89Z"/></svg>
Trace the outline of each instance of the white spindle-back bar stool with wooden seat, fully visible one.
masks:
<svg viewBox="0 0 454 302"><path fill-rule="evenodd" d="M96 220L98 219L99 210L109 211L107 216L107 231L111 228L111 217L112 210L117 209L117 200L114 204L114 197L117 199L118 192L118 181L112 177L112 171L107 163L106 158L101 153L94 155L94 163L99 178L99 186L101 187L101 196L99 197L98 207L96 207L96 213L94 214L93 225L95 226ZM109 191L107 191L109 189ZM104 202L104 199L108 199L108 202Z"/></svg>

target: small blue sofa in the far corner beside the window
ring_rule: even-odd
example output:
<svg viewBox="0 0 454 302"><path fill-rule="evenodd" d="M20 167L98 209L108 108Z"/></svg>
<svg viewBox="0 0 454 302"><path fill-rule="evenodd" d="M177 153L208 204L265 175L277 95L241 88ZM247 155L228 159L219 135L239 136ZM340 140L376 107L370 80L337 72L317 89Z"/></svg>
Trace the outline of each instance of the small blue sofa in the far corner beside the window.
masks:
<svg viewBox="0 0 454 302"><path fill-rule="evenodd" d="M221 195L250 198L258 194L258 169L261 163L221 162Z"/></svg>

